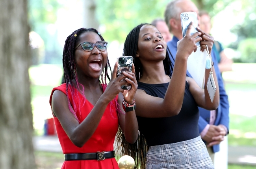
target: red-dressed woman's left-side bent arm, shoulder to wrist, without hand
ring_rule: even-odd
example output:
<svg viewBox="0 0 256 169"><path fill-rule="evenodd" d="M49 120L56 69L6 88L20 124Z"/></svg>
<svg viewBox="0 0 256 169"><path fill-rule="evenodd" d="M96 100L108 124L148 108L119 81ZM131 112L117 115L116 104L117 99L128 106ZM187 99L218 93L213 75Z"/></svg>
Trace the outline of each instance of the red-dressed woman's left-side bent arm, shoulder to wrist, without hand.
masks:
<svg viewBox="0 0 256 169"><path fill-rule="evenodd" d="M100 97L88 116L79 124L69 110L67 96L58 90L54 91L52 95L52 111L56 114L72 143L78 147L82 147L91 138L108 103L104 97Z"/></svg>

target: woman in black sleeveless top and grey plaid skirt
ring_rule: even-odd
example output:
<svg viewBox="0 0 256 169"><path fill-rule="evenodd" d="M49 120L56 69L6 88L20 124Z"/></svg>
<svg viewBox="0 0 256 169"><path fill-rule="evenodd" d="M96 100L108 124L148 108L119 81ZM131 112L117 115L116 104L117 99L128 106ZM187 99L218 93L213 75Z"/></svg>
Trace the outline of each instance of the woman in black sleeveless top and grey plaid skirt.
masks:
<svg viewBox="0 0 256 169"><path fill-rule="evenodd" d="M123 55L135 58L139 138L134 145L123 144L122 152L133 156L141 168L213 168L198 132L197 106L217 109L219 89L215 71L212 67L217 86L213 102L206 87L202 91L195 80L186 77L187 58L197 50L196 42L201 41L201 51L207 45L211 53L213 37L199 28L190 35L191 27L192 23L180 40L174 65L171 65L165 40L150 24L135 27L124 43ZM205 84L209 73L210 69L206 69Z"/></svg>

